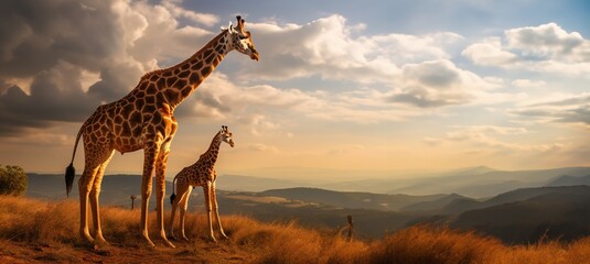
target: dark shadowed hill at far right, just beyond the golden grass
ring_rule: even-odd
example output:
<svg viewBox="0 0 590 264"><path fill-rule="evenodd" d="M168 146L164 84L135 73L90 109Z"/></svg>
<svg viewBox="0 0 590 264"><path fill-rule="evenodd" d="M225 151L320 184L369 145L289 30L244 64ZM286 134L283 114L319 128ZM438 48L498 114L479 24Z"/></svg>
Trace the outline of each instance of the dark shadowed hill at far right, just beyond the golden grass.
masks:
<svg viewBox="0 0 590 264"><path fill-rule="evenodd" d="M478 229L508 243L529 243L540 238L571 241L590 235L590 187L539 188L526 193L537 194L521 201L463 212L451 226Z"/></svg>

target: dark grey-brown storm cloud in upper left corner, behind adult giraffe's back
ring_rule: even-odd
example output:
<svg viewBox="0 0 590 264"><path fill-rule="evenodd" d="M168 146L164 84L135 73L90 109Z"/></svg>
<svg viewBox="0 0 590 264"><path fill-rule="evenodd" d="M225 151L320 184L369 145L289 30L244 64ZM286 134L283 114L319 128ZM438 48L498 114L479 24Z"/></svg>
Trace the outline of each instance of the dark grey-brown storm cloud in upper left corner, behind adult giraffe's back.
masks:
<svg viewBox="0 0 590 264"><path fill-rule="evenodd" d="M83 121L127 94L141 74L125 50L112 1L0 1L0 135L52 121ZM82 73L100 73L86 92ZM14 79L32 79L29 92ZM131 85L130 85L131 84Z"/></svg>

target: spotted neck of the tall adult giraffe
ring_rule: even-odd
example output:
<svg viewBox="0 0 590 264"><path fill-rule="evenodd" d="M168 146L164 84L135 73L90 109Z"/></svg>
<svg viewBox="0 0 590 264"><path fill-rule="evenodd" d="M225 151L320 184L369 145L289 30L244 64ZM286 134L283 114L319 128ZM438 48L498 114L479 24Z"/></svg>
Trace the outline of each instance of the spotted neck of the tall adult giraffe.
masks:
<svg viewBox="0 0 590 264"><path fill-rule="evenodd" d="M174 109L189 97L230 51L227 31L223 31L184 62L170 68L148 73L142 79L155 82L162 100ZM149 89L149 87L148 87Z"/></svg>

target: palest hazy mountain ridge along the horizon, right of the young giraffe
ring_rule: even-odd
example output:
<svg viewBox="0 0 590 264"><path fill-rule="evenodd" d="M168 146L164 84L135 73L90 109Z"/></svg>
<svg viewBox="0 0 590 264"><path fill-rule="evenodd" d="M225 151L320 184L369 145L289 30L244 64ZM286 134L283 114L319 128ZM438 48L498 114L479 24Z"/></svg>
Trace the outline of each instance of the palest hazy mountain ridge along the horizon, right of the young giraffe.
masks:
<svg viewBox="0 0 590 264"><path fill-rule="evenodd" d="M309 170L309 172L308 172ZM360 172L350 173L346 177L334 180L333 177L323 177L322 174L332 175L332 170L313 170L308 168L305 177L286 177L285 175L270 176L268 170L253 170L261 173L260 176L222 175L218 186L226 190L262 191L268 189L310 187L336 191L364 191L374 194L405 194L425 196L433 194L457 194L473 198L487 198L511 191L517 188L550 186L553 180L569 176L571 179L589 176L590 167L565 167L553 169L530 170L497 170L486 166L452 169L444 173L397 173L396 177L385 177L383 174ZM313 178L309 178L313 175ZM377 177L378 176L378 177ZM363 178L363 179L352 179ZM590 176L589 176L590 178ZM582 179L583 180L583 179ZM556 183L557 186L575 183ZM578 183L582 184L582 183Z"/></svg>

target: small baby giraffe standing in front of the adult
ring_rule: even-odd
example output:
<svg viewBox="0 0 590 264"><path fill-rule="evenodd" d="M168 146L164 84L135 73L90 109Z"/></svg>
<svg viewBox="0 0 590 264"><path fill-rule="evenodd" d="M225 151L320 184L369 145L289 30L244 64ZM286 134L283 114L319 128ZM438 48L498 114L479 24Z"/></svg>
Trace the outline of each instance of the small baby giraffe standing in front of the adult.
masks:
<svg viewBox="0 0 590 264"><path fill-rule="evenodd" d="M205 208L207 210L207 223L210 229L210 238L213 242L216 242L215 235L213 235L213 223L211 222L212 208L215 211L215 221L219 227L219 232L224 239L227 239L219 221L219 212L217 210L217 198L215 195L215 179L217 178L217 172L215 172L215 162L217 161L217 154L219 153L219 145L222 142L229 144L234 147L234 140L232 133L227 130L226 125L222 125L222 130L215 134L208 150L203 153L196 163L189 167L184 167L172 180L172 195L170 196L170 202L172 204L172 213L170 217L170 234L174 237L174 215L176 213L176 207L180 204L180 227L182 238L186 241L189 239L184 234L184 215L189 205L189 196L191 195L191 186L202 186L203 194L205 196ZM179 196L174 194L174 184Z"/></svg>

